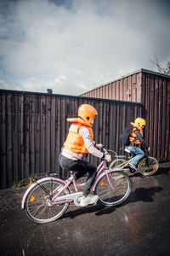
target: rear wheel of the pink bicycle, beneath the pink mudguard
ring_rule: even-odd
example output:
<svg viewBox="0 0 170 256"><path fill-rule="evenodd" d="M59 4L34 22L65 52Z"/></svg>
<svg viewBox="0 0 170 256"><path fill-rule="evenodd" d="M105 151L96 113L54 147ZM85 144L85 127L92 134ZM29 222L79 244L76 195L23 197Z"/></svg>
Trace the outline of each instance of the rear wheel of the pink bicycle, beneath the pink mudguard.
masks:
<svg viewBox="0 0 170 256"><path fill-rule="evenodd" d="M70 203L65 203L62 205L49 206L49 195L46 191L42 189L47 189L49 193L52 193L54 189L59 189L65 186L65 183L59 182L49 177L48 180L42 181L41 183L35 185L31 191L26 196L25 201L25 211L28 218L37 224L45 224L52 222L60 218ZM65 189L60 195L70 194L69 189Z"/></svg>

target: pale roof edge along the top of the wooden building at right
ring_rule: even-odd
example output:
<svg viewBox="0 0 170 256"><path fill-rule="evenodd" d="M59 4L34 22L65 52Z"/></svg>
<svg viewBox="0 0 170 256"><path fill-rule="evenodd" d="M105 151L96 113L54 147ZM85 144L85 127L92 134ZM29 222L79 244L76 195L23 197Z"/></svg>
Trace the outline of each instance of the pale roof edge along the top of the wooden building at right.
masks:
<svg viewBox="0 0 170 256"><path fill-rule="evenodd" d="M105 84L101 84L101 85L99 85L99 86L95 86L94 89L92 89L92 90L87 90L87 91L83 92L80 96L82 96L83 94L85 94L85 93L87 93L87 92L90 92L90 91L99 89L99 88L101 88L101 87L103 87L103 86L105 86L105 85L107 85L107 84L112 84L112 83L114 83L114 82L116 82L116 81L119 81L119 80L121 80L121 79L126 79L127 77L132 76L132 75L135 74L135 73L140 73L140 72L141 72L141 73L151 73L151 74L159 75L159 76L161 76L161 77L166 77L167 79L170 79L170 75L167 75L167 74L165 74L165 73L158 73L158 72L156 72L156 71L148 70L148 69L145 69L145 68L140 68L139 70L134 71L134 72L132 72L132 73L128 73L127 75L122 76L122 77L120 77L119 79L114 79L114 80L108 81L108 82L105 83Z"/></svg>

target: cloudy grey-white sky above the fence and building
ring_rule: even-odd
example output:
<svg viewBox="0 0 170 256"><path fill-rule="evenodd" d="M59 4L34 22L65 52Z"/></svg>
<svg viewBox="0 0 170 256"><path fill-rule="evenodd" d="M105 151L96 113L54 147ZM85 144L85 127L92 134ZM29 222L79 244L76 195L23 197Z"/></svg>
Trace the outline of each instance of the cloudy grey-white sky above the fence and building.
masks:
<svg viewBox="0 0 170 256"><path fill-rule="evenodd" d="M0 89L79 95L170 61L170 1L0 0Z"/></svg>

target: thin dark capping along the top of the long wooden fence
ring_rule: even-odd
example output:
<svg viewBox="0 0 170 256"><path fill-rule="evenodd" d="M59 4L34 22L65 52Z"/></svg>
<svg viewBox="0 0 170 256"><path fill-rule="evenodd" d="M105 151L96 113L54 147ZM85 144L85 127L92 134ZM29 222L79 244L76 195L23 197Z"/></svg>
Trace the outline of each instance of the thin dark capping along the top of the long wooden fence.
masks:
<svg viewBox="0 0 170 256"><path fill-rule="evenodd" d="M71 98L78 98L78 99L85 99L85 100L98 100L103 102L122 102L126 104L138 104L143 105L141 102L127 102L127 101L118 101L118 100L111 100L111 99L103 99L103 98L94 98L94 97L87 97L87 96L72 96L72 95L63 95L63 94L48 94L45 92L34 92L34 91L23 91L23 90L5 90L0 89L0 92L8 92L8 93L18 93L18 94L33 94L33 95L44 95L44 96L60 96L60 97L71 97Z"/></svg>

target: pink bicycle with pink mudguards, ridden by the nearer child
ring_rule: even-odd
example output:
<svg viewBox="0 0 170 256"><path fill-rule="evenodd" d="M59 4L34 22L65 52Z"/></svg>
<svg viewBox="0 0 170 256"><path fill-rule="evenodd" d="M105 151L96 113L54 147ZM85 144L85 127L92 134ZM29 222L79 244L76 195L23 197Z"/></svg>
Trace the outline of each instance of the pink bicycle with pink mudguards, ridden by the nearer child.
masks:
<svg viewBox="0 0 170 256"><path fill-rule="evenodd" d="M103 150L107 154L105 148ZM120 169L109 170L105 160L100 162L97 171L91 190L94 195L99 196L99 203L112 207L125 201L132 190L132 183L127 173ZM121 178L116 179L117 175L121 175ZM71 191L71 184L74 192ZM67 180L54 175L43 177L26 190L21 207L25 209L28 218L37 224L52 222L65 213L70 203L80 206L82 192L78 189L84 184L77 183L72 172Z"/></svg>

